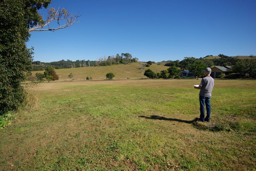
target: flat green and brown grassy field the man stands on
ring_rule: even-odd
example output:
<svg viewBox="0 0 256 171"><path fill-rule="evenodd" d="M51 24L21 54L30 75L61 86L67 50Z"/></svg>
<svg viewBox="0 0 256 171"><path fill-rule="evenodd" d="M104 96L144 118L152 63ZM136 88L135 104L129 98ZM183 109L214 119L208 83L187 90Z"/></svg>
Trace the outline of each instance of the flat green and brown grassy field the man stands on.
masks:
<svg viewBox="0 0 256 171"><path fill-rule="evenodd" d="M193 124L199 92L192 85L199 83L146 79L28 88L32 106L0 130L0 170L255 170L256 80L215 80L212 121L205 126L228 123L222 131Z"/></svg>

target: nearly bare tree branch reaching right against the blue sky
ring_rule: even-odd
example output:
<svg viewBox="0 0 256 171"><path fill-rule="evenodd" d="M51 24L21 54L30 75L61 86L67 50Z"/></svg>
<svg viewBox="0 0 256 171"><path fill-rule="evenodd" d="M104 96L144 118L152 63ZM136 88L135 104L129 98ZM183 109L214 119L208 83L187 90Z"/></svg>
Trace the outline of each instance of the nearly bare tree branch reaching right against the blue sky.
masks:
<svg viewBox="0 0 256 171"><path fill-rule="evenodd" d="M47 12L47 18L46 20L42 19L38 22L37 26L32 27L28 30L28 32L32 32L32 31L55 31L55 30L59 30L59 29L63 29L69 26L72 26L75 23L79 23L79 21L77 21L77 19L81 16L81 14L79 14L79 11L76 12L76 14L73 13L69 13L69 11L67 11L65 8L62 8L60 10L60 7L55 10L55 8L50 8ZM57 21L57 28L51 28L50 27L50 23L52 21ZM44 28L48 26L48 28Z"/></svg>

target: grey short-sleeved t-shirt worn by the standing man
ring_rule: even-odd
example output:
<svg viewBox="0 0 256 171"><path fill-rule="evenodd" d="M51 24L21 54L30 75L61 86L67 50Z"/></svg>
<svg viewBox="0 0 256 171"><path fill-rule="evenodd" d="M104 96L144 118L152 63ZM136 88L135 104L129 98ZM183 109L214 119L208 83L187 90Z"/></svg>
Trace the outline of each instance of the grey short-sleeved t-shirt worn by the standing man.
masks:
<svg viewBox="0 0 256 171"><path fill-rule="evenodd" d="M201 80L200 86L200 96L211 97L212 96L212 88L214 85L214 79L212 77L204 77Z"/></svg>

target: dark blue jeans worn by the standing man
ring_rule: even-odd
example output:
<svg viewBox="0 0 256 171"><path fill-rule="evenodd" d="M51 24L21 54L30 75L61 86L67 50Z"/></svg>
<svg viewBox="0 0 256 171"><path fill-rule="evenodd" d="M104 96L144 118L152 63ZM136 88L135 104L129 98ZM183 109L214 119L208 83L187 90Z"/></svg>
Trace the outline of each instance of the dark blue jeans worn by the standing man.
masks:
<svg viewBox="0 0 256 171"><path fill-rule="evenodd" d="M199 102L200 102L200 120L204 121L204 103L206 106L206 112L207 115L205 117L205 120L208 121L210 119L211 115L211 97L204 97L204 96L199 96Z"/></svg>

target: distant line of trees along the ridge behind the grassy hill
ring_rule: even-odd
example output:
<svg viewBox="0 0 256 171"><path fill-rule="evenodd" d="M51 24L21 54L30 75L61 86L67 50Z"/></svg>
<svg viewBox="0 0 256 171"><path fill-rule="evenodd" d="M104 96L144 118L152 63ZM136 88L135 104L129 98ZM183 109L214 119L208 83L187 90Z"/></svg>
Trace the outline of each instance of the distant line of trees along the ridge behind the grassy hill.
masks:
<svg viewBox="0 0 256 171"><path fill-rule="evenodd" d="M40 61L33 61L33 68L32 71L44 71L47 66L52 66L55 69L62 69L62 68L79 68L79 67L87 67L87 66L107 66L113 64L128 64L132 62L137 62L138 58L132 57L129 53L122 53L121 56L116 54L116 56L104 56L100 57L96 61L90 60L61 60L57 62L40 62Z"/></svg>

